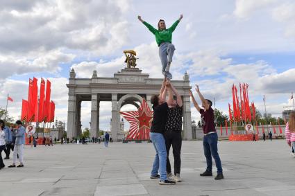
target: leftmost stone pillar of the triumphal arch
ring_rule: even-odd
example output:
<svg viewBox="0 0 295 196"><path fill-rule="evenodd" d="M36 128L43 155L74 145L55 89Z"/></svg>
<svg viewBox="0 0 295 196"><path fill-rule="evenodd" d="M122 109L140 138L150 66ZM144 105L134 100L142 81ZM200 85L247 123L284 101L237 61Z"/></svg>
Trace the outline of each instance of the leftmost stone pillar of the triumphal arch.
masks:
<svg viewBox="0 0 295 196"><path fill-rule="evenodd" d="M74 132L76 132L76 95L69 94L67 105L67 137L73 137Z"/></svg>

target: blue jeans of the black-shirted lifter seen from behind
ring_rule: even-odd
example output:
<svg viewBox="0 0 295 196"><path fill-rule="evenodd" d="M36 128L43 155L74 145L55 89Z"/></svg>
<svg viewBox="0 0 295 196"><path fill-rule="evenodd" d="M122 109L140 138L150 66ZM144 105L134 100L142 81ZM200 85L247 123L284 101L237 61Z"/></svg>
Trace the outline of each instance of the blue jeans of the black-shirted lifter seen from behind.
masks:
<svg viewBox="0 0 295 196"><path fill-rule="evenodd" d="M165 139L163 134L160 133L149 133L149 137L153 142L153 147L155 148L155 160L153 161L153 169L151 170L151 175L155 176L160 174L160 181L167 179L166 173L166 161L167 161L167 151L165 145Z"/></svg>

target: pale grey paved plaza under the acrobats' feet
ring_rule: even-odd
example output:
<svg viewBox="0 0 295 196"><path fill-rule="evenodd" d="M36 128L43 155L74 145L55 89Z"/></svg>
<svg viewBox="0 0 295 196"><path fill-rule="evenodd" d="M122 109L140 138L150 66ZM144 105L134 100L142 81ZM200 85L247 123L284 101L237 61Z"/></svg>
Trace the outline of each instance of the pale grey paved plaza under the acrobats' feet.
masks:
<svg viewBox="0 0 295 196"><path fill-rule="evenodd" d="M183 141L183 182L160 186L149 179L155 155L151 143L26 146L24 168L0 170L0 190L3 196L295 195L295 158L284 140L221 141L219 153L225 179L200 177L202 142Z"/></svg>

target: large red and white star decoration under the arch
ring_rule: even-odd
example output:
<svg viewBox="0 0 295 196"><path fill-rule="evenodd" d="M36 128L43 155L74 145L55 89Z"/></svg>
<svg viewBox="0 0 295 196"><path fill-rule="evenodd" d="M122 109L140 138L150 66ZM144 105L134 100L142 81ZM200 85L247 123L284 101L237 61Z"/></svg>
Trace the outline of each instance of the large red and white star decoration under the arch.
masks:
<svg viewBox="0 0 295 196"><path fill-rule="evenodd" d="M130 123L127 140L149 140L153 111L145 99L142 99L142 104L137 111L120 112L120 114Z"/></svg>

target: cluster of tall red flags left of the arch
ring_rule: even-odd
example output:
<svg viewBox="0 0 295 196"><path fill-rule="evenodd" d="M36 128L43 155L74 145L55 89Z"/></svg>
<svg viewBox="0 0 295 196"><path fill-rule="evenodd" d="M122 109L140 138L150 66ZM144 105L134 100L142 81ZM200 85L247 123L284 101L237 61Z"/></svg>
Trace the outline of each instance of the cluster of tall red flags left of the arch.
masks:
<svg viewBox="0 0 295 196"><path fill-rule="evenodd" d="M51 96L51 82L46 82L45 94L45 80L41 78L40 84L40 98L38 102L38 86L37 78L30 78L28 82L28 100L22 100L22 121L50 123L54 121L54 114L56 104L50 100Z"/></svg>

